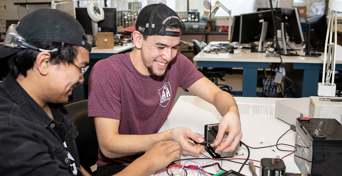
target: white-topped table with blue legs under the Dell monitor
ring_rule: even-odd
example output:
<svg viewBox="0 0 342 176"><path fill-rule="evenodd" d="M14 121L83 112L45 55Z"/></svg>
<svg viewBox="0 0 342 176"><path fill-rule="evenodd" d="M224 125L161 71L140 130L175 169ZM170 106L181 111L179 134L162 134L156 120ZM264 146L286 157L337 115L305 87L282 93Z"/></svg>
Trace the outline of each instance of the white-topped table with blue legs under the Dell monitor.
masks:
<svg viewBox="0 0 342 176"><path fill-rule="evenodd" d="M218 42L210 42L214 45ZM208 48L204 48L207 50ZM243 50L243 49L242 49ZM243 68L242 78L242 96L255 97L257 89L257 73L258 68L269 68L269 63L280 63L278 57L266 57L265 53L251 53L251 50L244 50L246 53L240 53L241 49L235 49L235 54L219 53L212 54L199 52L194 60L197 61L199 67L238 67ZM240 53L240 54L236 54ZM303 54L298 51L298 54ZM342 46L337 45L336 54L336 70L342 70ZM323 69L323 53L320 57L303 57L303 56L281 56L283 63L293 63L293 69L304 70L302 97L317 96L317 80L319 78L319 70Z"/></svg>

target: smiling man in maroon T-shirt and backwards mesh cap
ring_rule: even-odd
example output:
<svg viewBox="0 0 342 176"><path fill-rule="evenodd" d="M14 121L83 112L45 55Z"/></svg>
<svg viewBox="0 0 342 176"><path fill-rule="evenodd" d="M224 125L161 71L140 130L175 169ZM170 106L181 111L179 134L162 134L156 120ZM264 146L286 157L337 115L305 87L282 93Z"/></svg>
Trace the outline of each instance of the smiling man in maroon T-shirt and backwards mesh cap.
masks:
<svg viewBox="0 0 342 176"><path fill-rule="evenodd" d="M124 29L132 32L135 49L100 60L93 67L88 116L95 118L98 174L120 171L158 141L179 141L182 153L199 154L204 146L188 140L201 143L203 138L188 128L157 133L171 111L178 87L213 104L222 115L216 152L233 151L238 145L242 133L236 102L177 53L182 29L178 15L168 6L147 5L135 26ZM225 132L229 135L223 139Z"/></svg>

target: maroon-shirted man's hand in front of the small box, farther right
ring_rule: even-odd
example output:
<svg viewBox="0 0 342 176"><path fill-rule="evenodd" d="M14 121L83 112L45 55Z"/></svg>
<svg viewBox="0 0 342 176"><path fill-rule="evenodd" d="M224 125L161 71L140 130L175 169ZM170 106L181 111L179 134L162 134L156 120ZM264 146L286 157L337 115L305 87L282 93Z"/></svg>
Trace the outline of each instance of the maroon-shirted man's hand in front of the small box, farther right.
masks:
<svg viewBox="0 0 342 176"><path fill-rule="evenodd" d="M224 133L228 132L228 136L223 138ZM215 152L231 152L234 151L242 138L241 123L239 114L236 111L228 111L221 119L219 131L211 146L217 147Z"/></svg>

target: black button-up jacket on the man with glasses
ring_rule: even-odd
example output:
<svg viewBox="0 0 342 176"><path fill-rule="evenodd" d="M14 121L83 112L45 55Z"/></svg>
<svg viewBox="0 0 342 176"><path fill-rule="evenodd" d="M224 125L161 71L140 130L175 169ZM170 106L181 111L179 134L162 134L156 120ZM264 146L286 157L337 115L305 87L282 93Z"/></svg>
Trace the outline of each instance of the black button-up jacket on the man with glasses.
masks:
<svg viewBox="0 0 342 176"><path fill-rule="evenodd" d="M83 175L76 127L64 105L49 107L54 120L11 75L0 82L1 176Z"/></svg>

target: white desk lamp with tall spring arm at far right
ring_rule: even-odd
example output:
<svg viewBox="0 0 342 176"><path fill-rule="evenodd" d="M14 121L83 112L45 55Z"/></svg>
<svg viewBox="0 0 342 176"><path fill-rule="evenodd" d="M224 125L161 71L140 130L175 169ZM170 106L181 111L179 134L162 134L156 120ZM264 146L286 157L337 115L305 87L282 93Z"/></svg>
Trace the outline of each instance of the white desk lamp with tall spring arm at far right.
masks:
<svg viewBox="0 0 342 176"><path fill-rule="evenodd" d="M323 76L322 83L318 83L317 95L318 96L335 96L336 84L335 78L335 65L336 65L336 43L337 43L337 12L342 12L342 0L329 1L329 19L327 36L324 46L324 62L323 62ZM334 43L332 43L332 27L334 26ZM330 33L330 35L329 35ZM329 44L328 44L329 40ZM331 79L331 83L330 83Z"/></svg>

